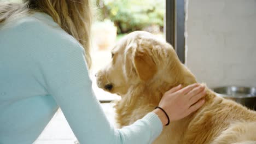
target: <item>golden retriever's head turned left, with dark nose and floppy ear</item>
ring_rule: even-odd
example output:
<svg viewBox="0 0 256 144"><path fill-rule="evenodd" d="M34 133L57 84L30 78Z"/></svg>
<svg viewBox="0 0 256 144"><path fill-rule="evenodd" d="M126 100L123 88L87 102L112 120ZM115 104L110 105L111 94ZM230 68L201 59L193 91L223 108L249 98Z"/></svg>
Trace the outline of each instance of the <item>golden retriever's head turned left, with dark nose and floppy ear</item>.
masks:
<svg viewBox="0 0 256 144"><path fill-rule="evenodd" d="M148 32L136 31L114 46L112 62L96 74L97 86L119 95L141 84L160 86L167 82L174 86L180 83L181 67L170 44Z"/></svg>

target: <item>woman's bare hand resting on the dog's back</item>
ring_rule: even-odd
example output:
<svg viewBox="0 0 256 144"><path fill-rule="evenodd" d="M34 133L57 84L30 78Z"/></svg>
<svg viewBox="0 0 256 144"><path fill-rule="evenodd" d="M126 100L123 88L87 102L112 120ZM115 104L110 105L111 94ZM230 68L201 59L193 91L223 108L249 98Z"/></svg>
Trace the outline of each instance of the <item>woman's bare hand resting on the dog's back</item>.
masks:
<svg viewBox="0 0 256 144"><path fill-rule="evenodd" d="M165 110L170 122L177 121L199 109L205 103L205 100L202 99L205 94L205 86L198 83L184 88L179 85L167 91L158 106ZM166 125L168 119L165 113L160 109L155 109L153 112L158 115L162 124Z"/></svg>

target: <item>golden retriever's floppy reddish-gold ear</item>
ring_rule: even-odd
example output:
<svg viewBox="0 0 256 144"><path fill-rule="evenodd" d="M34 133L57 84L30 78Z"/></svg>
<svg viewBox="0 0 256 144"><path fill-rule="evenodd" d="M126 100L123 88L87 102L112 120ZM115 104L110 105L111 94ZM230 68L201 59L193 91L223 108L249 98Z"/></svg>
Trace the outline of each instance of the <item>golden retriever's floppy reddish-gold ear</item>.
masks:
<svg viewBox="0 0 256 144"><path fill-rule="evenodd" d="M143 46L136 47L133 65L139 78L143 81L151 79L157 71L152 51L143 48Z"/></svg>

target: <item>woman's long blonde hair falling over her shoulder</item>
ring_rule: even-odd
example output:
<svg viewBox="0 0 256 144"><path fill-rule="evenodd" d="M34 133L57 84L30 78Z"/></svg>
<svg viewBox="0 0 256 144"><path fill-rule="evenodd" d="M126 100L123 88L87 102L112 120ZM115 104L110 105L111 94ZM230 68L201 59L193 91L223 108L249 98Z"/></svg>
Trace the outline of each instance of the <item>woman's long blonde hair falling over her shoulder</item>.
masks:
<svg viewBox="0 0 256 144"><path fill-rule="evenodd" d="M24 3L0 4L0 23L40 11L53 17L68 34L83 45L88 68L91 68L90 33L92 5L90 0L24 0Z"/></svg>

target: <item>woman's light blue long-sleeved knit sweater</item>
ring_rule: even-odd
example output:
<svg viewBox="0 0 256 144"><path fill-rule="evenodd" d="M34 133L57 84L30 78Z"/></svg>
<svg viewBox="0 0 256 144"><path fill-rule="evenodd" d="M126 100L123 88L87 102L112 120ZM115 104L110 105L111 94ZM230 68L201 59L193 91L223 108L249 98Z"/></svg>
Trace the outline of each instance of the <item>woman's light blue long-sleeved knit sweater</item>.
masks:
<svg viewBox="0 0 256 144"><path fill-rule="evenodd" d="M33 143L61 107L80 143L151 143L155 113L115 129L92 93L84 49L53 19L35 13L0 24L0 143Z"/></svg>

